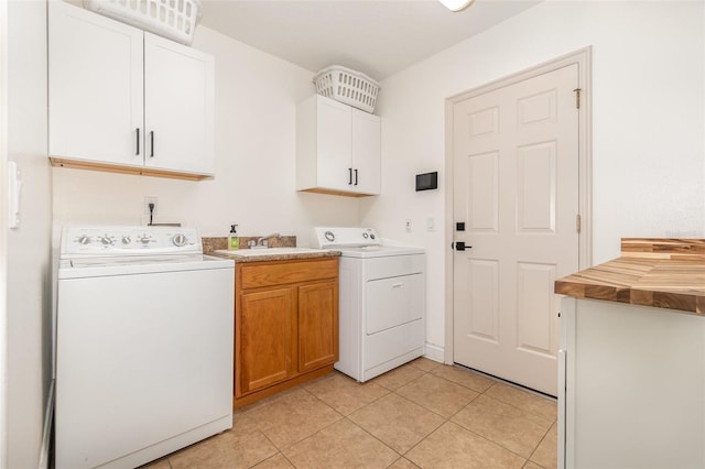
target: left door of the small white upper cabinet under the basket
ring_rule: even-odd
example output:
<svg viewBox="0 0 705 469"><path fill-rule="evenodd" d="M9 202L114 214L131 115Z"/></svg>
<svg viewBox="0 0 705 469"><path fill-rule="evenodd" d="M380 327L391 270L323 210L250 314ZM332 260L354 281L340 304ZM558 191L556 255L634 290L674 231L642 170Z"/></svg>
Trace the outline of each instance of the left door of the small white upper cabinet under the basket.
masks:
<svg viewBox="0 0 705 469"><path fill-rule="evenodd" d="M350 107L317 97L318 186L354 190Z"/></svg>

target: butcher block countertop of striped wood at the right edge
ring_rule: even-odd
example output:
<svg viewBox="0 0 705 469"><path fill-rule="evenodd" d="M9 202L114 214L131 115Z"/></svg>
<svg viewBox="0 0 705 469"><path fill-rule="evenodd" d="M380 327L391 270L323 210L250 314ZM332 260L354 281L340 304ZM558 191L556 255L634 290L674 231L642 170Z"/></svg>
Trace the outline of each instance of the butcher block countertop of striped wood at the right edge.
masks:
<svg viewBox="0 0 705 469"><path fill-rule="evenodd" d="M555 293L705 315L705 239L622 238L621 257L557 280Z"/></svg>

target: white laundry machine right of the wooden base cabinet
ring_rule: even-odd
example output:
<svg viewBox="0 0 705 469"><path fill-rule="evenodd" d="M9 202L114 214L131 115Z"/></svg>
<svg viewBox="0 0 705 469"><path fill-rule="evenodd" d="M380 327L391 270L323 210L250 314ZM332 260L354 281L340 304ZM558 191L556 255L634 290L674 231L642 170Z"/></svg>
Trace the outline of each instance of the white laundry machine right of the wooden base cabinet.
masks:
<svg viewBox="0 0 705 469"><path fill-rule="evenodd" d="M372 228L314 229L314 246L340 251L335 368L365 382L424 355L425 253Z"/></svg>

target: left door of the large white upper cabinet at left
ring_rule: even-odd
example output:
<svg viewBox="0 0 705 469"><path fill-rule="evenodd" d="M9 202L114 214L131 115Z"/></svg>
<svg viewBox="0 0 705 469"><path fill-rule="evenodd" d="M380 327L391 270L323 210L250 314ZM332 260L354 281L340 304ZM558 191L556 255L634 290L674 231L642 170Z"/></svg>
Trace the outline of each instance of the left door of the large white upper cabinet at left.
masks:
<svg viewBox="0 0 705 469"><path fill-rule="evenodd" d="M50 155L141 166L142 76L142 31L50 1Z"/></svg>

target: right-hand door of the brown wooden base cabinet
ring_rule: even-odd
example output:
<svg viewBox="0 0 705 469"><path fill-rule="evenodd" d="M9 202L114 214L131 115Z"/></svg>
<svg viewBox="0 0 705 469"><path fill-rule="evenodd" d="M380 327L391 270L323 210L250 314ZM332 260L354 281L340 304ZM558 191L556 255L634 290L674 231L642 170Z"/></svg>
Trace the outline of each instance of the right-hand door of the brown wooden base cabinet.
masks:
<svg viewBox="0 0 705 469"><path fill-rule="evenodd" d="M299 371L338 360L338 282L299 287Z"/></svg>

